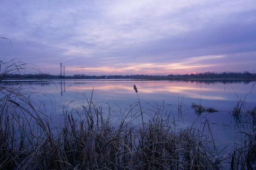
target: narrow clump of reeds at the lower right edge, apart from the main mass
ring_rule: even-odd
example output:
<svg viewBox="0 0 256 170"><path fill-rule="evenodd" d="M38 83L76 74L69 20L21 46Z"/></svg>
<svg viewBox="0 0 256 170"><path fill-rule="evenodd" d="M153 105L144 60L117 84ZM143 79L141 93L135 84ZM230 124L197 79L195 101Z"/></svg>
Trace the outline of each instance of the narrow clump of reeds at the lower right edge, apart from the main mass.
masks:
<svg viewBox="0 0 256 170"><path fill-rule="evenodd" d="M255 170L256 106L247 109L244 102L238 102L232 110L232 116L242 139L240 143L234 144L234 152L231 153L231 170Z"/></svg>

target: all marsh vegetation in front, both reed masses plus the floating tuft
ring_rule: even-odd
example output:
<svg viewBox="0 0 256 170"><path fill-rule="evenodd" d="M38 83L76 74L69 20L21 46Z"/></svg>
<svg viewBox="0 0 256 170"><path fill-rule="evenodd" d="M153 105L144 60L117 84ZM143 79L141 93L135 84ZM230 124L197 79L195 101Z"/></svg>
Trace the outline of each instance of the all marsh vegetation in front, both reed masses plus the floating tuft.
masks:
<svg viewBox="0 0 256 170"><path fill-rule="evenodd" d="M46 106L32 100L33 95L48 94L4 82L6 76L23 69L22 62L1 61L0 169L246 170L256 167L256 107L247 108L243 100L238 100L230 111L236 122L234 128L243 138L221 157L222 148L217 148L207 119L202 128L196 124L183 128L165 105L150 110L141 106L136 86L137 101L129 109L120 110L123 117L119 124L112 121L111 106L105 112L102 105L93 102L92 90L90 96L81 93L84 104L80 108L64 107L61 113L64 121L52 127L52 121L56 120L46 107L54 108L54 103ZM197 113L217 111L201 104L191 106ZM143 116L149 119L143 120Z"/></svg>

